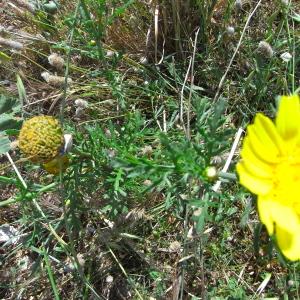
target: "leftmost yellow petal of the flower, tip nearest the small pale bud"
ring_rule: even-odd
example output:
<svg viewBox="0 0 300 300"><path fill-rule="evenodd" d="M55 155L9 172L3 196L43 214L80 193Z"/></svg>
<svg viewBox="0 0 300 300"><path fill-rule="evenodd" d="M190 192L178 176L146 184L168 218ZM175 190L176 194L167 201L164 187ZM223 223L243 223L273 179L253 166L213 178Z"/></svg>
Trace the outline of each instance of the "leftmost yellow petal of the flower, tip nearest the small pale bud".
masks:
<svg viewBox="0 0 300 300"><path fill-rule="evenodd" d="M249 191L257 195L267 194L273 186L271 180L261 178L252 174L243 162L239 162L236 166L239 174L240 183Z"/></svg>

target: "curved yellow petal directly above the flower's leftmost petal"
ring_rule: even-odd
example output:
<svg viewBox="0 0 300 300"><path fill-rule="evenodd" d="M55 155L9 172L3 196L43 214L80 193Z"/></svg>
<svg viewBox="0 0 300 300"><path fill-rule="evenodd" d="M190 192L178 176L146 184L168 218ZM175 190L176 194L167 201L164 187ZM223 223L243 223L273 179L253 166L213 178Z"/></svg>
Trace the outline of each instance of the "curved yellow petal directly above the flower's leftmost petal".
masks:
<svg viewBox="0 0 300 300"><path fill-rule="evenodd" d="M272 165L263 161L252 150L248 138L245 138L241 157L245 167L254 175L262 178L271 178L273 176Z"/></svg>

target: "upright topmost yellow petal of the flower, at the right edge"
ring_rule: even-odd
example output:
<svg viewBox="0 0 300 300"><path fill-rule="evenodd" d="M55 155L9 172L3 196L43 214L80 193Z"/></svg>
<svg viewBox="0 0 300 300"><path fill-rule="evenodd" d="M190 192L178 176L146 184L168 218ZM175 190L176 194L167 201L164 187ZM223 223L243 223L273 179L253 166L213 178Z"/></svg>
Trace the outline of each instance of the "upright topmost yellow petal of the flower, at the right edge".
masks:
<svg viewBox="0 0 300 300"><path fill-rule="evenodd" d="M300 102L297 95L282 96L276 117L276 127L281 137L289 141L300 133Z"/></svg>

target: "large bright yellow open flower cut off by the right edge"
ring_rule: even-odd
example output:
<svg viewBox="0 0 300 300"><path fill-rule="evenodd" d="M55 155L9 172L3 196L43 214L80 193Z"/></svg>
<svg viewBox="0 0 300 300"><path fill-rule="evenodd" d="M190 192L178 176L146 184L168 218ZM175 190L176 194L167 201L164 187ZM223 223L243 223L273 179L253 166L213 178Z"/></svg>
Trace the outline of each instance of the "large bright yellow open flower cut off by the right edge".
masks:
<svg viewBox="0 0 300 300"><path fill-rule="evenodd" d="M300 259L300 99L282 96L275 123L249 125L237 164L240 183L258 196L261 222L290 260Z"/></svg>

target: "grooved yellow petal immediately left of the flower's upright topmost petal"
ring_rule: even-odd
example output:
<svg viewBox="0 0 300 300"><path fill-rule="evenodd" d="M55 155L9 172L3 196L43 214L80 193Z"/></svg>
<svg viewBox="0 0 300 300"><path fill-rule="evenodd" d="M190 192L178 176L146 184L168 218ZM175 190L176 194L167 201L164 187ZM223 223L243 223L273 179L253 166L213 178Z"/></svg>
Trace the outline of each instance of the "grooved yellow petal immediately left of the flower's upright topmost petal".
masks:
<svg viewBox="0 0 300 300"><path fill-rule="evenodd" d="M274 123L263 114L258 113L251 126L256 137L271 152L284 154L284 144Z"/></svg>

